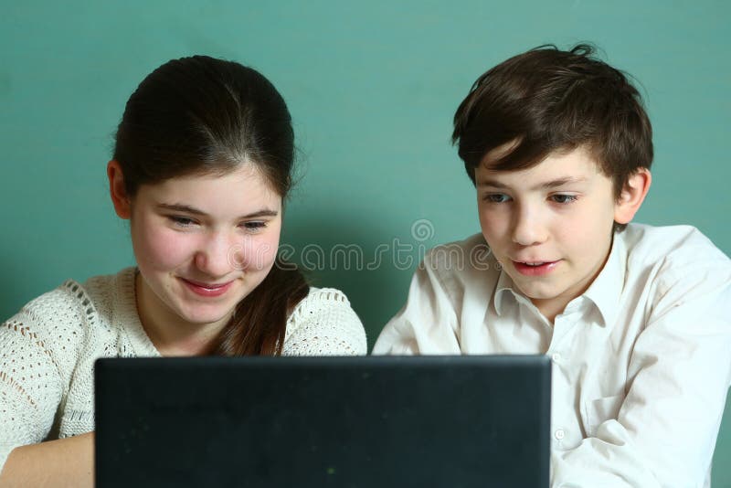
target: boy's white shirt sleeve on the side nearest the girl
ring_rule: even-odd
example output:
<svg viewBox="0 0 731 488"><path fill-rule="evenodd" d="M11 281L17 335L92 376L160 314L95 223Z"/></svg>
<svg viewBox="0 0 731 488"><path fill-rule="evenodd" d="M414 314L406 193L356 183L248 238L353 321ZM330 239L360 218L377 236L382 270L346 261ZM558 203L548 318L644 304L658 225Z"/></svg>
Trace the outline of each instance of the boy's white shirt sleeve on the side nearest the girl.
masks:
<svg viewBox="0 0 731 488"><path fill-rule="evenodd" d="M461 354L457 314L431 258L418 266L407 302L381 331L374 355Z"/></svg>

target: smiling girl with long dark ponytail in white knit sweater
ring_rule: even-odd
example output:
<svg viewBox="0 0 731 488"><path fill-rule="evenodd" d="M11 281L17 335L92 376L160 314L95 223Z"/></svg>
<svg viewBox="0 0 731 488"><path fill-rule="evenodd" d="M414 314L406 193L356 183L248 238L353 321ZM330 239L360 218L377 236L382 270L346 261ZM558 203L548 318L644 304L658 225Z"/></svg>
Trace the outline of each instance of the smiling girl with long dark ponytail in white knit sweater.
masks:
<svg viewBox="0 0 731 488"><path fill-rule="evenodd" d="M98 357L365 354L344 294L277 258L292 160L290 113L257 71L195 56L143 80L107 166L137 267L0 326L0 483L91 486Z"/></svg>

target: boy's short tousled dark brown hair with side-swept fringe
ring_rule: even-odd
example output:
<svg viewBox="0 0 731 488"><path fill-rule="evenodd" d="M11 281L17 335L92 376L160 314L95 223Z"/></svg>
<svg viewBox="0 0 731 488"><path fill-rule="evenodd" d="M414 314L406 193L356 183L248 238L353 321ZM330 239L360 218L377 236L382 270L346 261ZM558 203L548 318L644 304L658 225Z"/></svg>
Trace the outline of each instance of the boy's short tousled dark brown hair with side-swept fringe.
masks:
<svg viewBox="0 0 731 488"><path fill-rule="evenodd" d="M585 145L618 197L630 175L652 164L652 126L640 93L587 44L531 49L474 82L452 133L472 183L484 155L511 141L517 143L493 169L528 168Z"/></svg>

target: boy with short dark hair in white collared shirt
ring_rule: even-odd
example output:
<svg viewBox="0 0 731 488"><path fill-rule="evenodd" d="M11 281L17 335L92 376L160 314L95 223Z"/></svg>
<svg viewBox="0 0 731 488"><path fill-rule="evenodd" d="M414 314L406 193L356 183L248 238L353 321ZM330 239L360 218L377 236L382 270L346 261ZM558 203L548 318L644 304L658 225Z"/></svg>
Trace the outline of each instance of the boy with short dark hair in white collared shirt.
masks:
<svg viewBox="0 0 731 488"><path fill-rule="evenodd" d="M482 234L429 251L374 353L550 355L552 486L708 486L731 261L694 228L629 224L652 128L592 55L536 48L472 86L452 140Z"/></svg>

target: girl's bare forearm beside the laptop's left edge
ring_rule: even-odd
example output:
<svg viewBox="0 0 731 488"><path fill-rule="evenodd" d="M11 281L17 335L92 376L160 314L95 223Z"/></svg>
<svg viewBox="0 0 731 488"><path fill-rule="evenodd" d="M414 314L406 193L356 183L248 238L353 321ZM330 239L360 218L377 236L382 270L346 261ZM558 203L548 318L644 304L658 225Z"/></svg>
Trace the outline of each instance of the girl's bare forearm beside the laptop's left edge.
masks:
<svg viewBox="0 0 731 488"><path fill-rule="evenodd" d="M93 486L94 434L18 447L0 472L0 488Z"/></svg>

